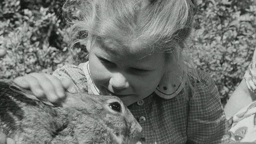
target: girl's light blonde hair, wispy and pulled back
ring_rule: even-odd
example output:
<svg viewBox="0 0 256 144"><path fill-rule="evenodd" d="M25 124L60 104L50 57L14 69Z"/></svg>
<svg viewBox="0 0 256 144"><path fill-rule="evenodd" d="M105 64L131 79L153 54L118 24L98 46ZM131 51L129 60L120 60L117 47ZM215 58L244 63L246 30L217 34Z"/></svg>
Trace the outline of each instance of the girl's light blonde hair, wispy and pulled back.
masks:
<svg viewBox="0 0 256 144"><path fill-rule="evenodd" d="M70 48L100 37L140 42L166 53L170 63L187 61L183 50L193 28L193 6L191 0L68 0L64 12L71 23ZM181 64L184 78L195 81L196 70L188 65Z"/></svg>

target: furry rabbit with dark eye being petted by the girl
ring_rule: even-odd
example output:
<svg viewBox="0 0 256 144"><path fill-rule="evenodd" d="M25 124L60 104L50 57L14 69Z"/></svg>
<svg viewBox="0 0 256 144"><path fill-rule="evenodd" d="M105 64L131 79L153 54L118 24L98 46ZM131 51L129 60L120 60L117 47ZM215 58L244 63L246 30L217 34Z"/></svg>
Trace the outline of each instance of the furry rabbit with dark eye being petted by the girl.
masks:
<svg viewBox="0 0 256 144"><path fill-rule="evenodd" d="M66 95L54 106L0 80L0 130L16 144L140 144L142 127L118 97Z"/></svg>

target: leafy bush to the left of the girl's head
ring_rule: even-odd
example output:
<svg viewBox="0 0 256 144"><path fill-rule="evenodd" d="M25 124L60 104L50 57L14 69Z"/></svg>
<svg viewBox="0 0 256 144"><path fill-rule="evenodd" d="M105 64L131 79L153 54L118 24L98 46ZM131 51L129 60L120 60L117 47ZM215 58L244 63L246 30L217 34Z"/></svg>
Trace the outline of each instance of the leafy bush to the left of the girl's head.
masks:
<svg viewBox="0 0 256 144"><path fill-rule="evenodd" d="M0 78L52 73L64 64L76 63L67 52L68 27L59 10L63 3L64 0L2 2L0 48L6 49L7 54L0 61ZM74 54L79 52L82 55L84 51L74 50Z"/></svg>

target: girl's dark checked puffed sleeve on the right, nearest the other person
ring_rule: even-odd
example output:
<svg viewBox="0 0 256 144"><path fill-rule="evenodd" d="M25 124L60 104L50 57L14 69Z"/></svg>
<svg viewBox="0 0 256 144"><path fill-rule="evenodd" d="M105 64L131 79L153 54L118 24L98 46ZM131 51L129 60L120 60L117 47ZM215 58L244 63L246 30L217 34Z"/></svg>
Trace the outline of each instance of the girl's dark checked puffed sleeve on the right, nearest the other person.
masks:
<svg viewBox="0 0 256 144"><path fill-rule="evenodd" d="M212 78L199 72L201 81L190 97L187 143L218 144L229 142L228 127L220 95Z"/></svg>

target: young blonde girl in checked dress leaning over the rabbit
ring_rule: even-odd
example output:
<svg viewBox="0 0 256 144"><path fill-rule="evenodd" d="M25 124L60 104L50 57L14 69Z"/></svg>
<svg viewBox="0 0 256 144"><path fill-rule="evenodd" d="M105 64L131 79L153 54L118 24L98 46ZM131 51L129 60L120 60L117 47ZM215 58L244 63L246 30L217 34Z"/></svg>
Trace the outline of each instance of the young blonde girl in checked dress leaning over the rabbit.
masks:
<svg viewBox="0 0 256 144"><path fill-rule="evenodd" d="M140 122L144 144L228 142L226 117L213 80L183 56L193 27L190 0L76 1L74 44L88 62L53 75L14 80L56 104L64 91L118 96ZM66 4L68 6L68 4Z"/></svg>

